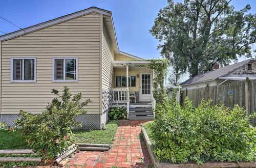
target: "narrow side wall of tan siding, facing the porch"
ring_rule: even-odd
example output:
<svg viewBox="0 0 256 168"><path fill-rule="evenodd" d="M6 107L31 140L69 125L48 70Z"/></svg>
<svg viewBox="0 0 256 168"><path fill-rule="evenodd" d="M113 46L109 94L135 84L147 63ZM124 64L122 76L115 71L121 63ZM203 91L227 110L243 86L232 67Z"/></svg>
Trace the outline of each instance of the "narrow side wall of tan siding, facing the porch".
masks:
<svg viewBox="0 0 256 168"><path fill-rule="evenodd" d="M103 26L102 31L102 88L114 88L114 67L112 61L114 60L114 52L111 48L108 33Z"/></svg>

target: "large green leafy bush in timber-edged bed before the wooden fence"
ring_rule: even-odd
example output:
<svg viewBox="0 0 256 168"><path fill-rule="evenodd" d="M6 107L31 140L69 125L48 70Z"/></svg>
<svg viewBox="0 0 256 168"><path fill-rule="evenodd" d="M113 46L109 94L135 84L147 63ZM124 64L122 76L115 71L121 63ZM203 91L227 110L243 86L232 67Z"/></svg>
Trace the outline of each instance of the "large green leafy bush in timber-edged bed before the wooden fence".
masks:
<svg viewBox="0 0 256 168"><path fill-rule="evenodd" d="M161 162L202 164L256 159L256 132L249 124L253 116L246 117L238 105L229 109L210 103L202 100L195 107L186 98L184 107L173 99L157 104L151 138Z"/></svg>

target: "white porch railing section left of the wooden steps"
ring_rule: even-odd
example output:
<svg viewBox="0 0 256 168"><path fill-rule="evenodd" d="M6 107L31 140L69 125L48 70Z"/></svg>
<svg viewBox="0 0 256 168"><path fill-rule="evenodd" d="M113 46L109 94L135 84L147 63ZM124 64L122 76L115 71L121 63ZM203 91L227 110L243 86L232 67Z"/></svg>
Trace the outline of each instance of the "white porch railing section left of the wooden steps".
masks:
<svg viewBox="0 0 256 168"><path fill-rule="evenodd" d="M129 89L112 89L112 102L113 103L127 103L130 101Z"/></svg>

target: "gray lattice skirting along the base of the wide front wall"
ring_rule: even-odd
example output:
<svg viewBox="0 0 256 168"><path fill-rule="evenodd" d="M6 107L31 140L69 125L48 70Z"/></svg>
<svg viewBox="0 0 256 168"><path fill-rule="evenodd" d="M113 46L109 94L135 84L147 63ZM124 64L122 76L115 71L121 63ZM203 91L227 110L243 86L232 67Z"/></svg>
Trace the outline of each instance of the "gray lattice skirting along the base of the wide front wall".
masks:
<svg viewBox="0 0 256 168"><path fill-rule="evenodd" d="M10 125L11 127L15 126L14 121L17 120L17 114L2 114L2 122ZM107 111L104 114L85 114L76 117L76 121L81 122L81 127L76 127L76 129L102 129L108 121Z"/></svg>

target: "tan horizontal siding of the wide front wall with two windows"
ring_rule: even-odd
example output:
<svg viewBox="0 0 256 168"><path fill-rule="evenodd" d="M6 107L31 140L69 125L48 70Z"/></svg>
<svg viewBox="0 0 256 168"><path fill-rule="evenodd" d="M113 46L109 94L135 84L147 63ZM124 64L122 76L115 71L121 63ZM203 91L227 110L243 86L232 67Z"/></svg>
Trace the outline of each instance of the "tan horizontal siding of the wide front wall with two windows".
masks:
<svg viewBox="0 0 256 168"><path fill-rule="evenodd" d="M2 114L20 109L40 113L56 96L51 89L68 86L72 94L90 98L88 114L99 114L100 14L90 13L2 42ZM36 57L36 82L10 82L11 57ZM78 82L52 82L52 58L77 57Z"/></svg>

